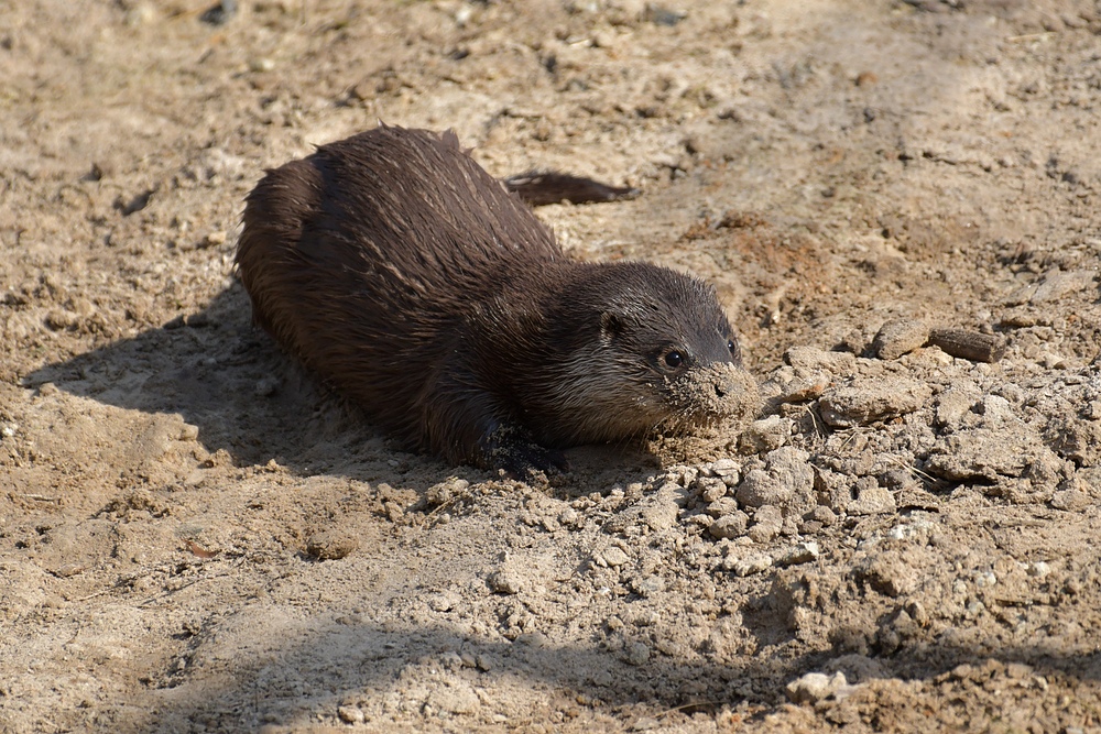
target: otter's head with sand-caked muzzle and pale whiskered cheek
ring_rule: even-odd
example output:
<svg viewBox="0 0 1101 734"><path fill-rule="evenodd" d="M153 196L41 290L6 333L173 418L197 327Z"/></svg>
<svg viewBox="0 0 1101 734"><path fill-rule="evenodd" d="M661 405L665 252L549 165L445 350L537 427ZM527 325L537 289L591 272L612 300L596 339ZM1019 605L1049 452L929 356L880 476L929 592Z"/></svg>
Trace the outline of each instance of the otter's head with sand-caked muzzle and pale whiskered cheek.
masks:
<svg viewBox="0 0 1101 734"><path fill-rule="evenodd" d="M569 293L575 330L564 338L574 351L553 381L556 399L577 414L571 442L715 423L757 407L710 285L644 263L588 267Z"/></svg>

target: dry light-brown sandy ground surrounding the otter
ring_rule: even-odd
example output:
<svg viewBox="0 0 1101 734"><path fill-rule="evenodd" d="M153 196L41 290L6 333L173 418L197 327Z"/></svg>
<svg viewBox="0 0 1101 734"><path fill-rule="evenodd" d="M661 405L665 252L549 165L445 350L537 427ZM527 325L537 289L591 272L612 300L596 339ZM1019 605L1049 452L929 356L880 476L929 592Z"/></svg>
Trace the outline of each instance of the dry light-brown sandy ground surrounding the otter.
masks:
<svg viewBox="0 0 1101 734"><path fill-rule="evenodd" d="M208 1L0 1L0 730L1101 731L1095 2ZM643 189L538 216L715 282L762 421L390 445L232 271L380 119Z"/></svg>

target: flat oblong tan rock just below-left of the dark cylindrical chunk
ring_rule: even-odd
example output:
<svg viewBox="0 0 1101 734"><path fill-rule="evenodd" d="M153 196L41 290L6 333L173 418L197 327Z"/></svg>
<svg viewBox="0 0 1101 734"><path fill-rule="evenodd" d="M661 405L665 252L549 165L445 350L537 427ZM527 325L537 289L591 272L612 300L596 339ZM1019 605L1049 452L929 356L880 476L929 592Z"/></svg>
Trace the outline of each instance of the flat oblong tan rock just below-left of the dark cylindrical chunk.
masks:
<svg viewBox="0 0 1101 734"><path fill-rule="evenodd" d="M933 388L908 377L889 377L832 387L818 402L822 420L837 428L866 426L918 409Z"/></svg>

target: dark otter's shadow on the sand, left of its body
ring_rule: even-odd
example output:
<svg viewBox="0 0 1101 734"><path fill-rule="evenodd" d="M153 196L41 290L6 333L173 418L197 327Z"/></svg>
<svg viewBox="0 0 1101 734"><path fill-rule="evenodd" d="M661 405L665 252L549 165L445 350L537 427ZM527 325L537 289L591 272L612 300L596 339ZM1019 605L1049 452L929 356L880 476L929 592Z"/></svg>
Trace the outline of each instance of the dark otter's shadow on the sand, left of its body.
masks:
<svg viewBox="0 0 1101 734"><path fill-rule="evenodd" d="M252 327L238 283L201 311L47 364L23 384L45 383L120 408L178 413L205 449L238 465L274 459L308 472L326 458L392 458L361 413Z"/></svg>

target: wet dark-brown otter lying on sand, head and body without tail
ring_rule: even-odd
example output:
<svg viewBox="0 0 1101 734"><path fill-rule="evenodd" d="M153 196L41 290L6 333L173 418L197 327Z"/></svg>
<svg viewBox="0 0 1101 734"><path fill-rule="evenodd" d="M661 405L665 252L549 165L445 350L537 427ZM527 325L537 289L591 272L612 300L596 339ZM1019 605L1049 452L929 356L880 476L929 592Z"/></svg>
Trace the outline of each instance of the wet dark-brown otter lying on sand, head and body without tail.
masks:
<svg viewBox="0 0 1101 734"><path fill-rule="evenodd" d="M269 171L237 251L253 318L406 445L564 469L560 448L745 409L715 291L588 264L451 132L380 127Z"/></svg>

